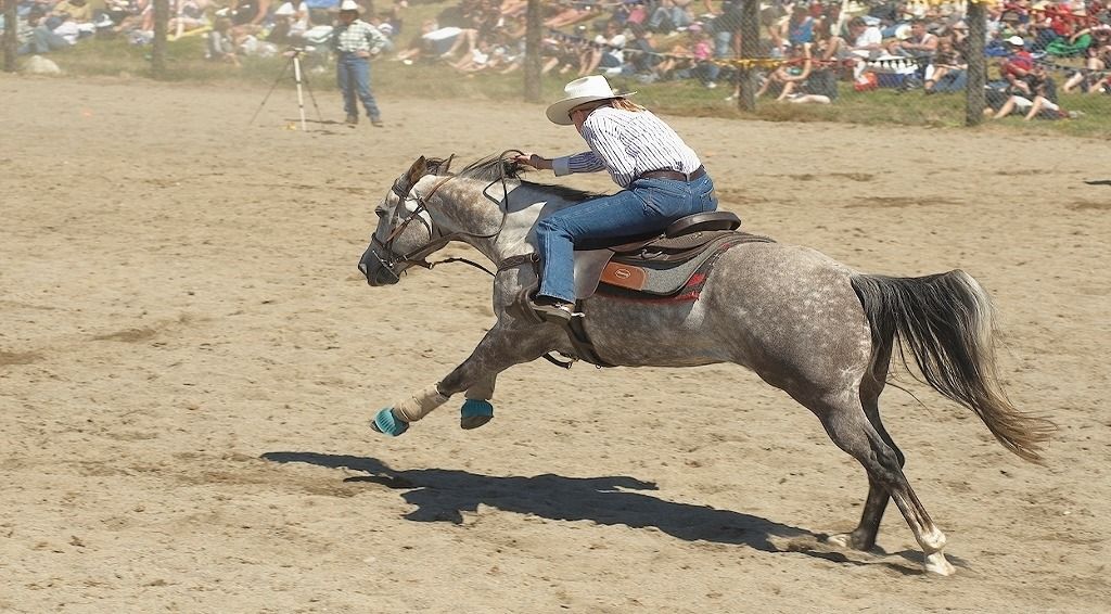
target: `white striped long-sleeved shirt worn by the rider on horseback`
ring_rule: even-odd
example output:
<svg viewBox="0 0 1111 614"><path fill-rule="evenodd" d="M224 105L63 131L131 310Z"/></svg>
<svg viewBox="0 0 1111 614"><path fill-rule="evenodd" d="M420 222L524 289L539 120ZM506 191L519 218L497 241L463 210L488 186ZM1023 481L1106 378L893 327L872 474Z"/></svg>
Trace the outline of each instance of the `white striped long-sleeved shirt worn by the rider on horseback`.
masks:
<svg viewBox="0 0 1111 614"><path fill-rule="evenodd" d="M557 175L604 169L618 185L628 188L641 173L690 174L702 165L679 134L651 111L599 107L583 122L582 138L590 151L552 160Z"/></svg>

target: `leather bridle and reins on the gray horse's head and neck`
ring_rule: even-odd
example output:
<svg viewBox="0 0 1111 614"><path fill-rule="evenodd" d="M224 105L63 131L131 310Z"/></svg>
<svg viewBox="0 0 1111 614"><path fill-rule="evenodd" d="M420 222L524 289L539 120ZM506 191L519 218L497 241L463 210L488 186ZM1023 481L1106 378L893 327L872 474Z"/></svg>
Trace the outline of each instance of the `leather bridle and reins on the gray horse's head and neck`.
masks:
<svg viewBox="0 0 1111 614"><path fill-rule="evenodd" d="M500 160L500 161L503 162L506 160L506 154L507 153L514 153L514 152L516 153L522 153L519 150L513 150L513 149L507 150L507 151L503 151L501 153L501 155L498 157L498 160ZM450 158L449 158L448 161L450 162ZM442 248L442 246L447 245L448 243L450 243L452 241L456 241L458 239L463 239L463 238L470 238L470 239L493 239L494 236L498 236L499 234L501 234L501 231L506 229L506 221L507 221L507 219L509 217L509 207L507 205L506 208L502 208L501 207L501 202L499 200L494 199L493 197L491 197L487 192L487 190L489 190L490 185L493 185L494 183L501 182L502 194L506 194L506 198L508 199L509 189L506 185L506 164L504 163L500 164L499 172L500 172L500 177L498 179L491 181L489 185L487 185L486 188L482 189L482 195L484 195L486 198L490 199L491 202L493 202L494 204L498 205L499 209L501 209L501 223L498 224L497 230L494 230L493 232L488 233L488 234L476 233L476 232L467 232L467 231L454 231L454 232L449 232L449 233L442 233L436 227L436 224L432 222L432 215L429 212L428 202L432 198L432 195L434 195L436 192L440 188L443 187L444 183L447 183L447 182L451 181L452 179L454 179L456 175L451 174L451 175L448 175L448 177L443 178L443 180L441 180L441 181L437 182L434 185L432 185L432 189L430 189L428 191L428 193L426 193L426 194L421 194L420 192L416 192L414 191L416 188L417 188L417 183L420 181L420 179L423 179L423 177L420 178L420 179L418 179L417 181L413 181L411 185L404 185L404 183L402 182L402 179L398 178L397 181L393 182L393 185L390 187L390 191L393 192L398 197L398 199L400 201L400 204L403 204L408 200L414 200L414 201L417 201L417 209L414 209L413 212L410 213L408 218L406 218L404 220L402 220L401 223L399 223L397 227L394 227L393 230L390 231L390 234L386 238L384 241L379 240L377 232L374 234L372 234L371 238L370 238L370 248L371 248L370 249L370 253L374 256L376 260L378 260L378 263L382 266L382 269L386 270L390 275L393 276L394 281L400 281L401 280L400 272L403 272L403 269L400 272L397 269L400 265L406 265L406 266L416 265L416 266L421 266L421 268L431 270L437 264L446 264L446 263L450 263L450 262L463 262L466 264L470 264L471 266L476 266L478 269L481 269L481 270L486 271L487 273L489 273L490 275L494 275L493 271L490 271L489 269L487 269L486 266L479 264L478 262L473 262L473 261L468 260L466 258L448 258L448 259L444 259L444 260L438 260L436 262L429 262L427 260L427 258L430 254L432 254L433 252L436 252L437 250L439 250L440 248ZM410 199L410 193L412 193L412 198L411 199ZM427 221L424 220L424 218L421 217L421 213L423 213L423 212L429 212L429 217L428 217ZM403 233L406 231L406 229L409 228L409 224L411 224L413 222L413 220L420 220L420 222L422 224L424 224L424 228L428 229L429 242L426 243L424 245L421 245L421 246L419 246L419 248L417 248L417 249L408 252L408 253L398 254L396 251L393 251L393 243L401 235L401 233ZM378 250L374 250L376 246L381 248L381 252L382 253L379 253Z"/></svg>

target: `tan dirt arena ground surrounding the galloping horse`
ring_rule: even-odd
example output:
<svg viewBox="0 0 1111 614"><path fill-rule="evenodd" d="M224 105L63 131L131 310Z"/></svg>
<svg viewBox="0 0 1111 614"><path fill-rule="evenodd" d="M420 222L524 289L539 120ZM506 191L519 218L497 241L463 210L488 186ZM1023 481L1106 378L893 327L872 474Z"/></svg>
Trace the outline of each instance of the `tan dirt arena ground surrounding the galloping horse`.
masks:
<svg viewBox="0 0 1111 614"><path fill-rule="evenodd" d="M739 368L537 362L480 430L453 400L376 436L492 312L462 265L368 288L373 205L419 154L581 141L540 105L390 92L386 129L290 130L290 91L248 125L264 93L0 77L0 611L1107 611L1105 142L669 118L753 232L992 292L1010 395L1060 431L1035 466L888 389L958 566L934 578L893 507L878 551L822 543L863 471Z"/></svg>

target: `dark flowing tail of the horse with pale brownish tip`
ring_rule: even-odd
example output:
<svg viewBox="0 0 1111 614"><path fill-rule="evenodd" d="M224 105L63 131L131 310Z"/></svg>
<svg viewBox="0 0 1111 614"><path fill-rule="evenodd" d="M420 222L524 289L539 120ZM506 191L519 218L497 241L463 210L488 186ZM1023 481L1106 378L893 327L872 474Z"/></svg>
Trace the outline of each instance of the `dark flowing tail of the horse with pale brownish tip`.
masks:
<svg viewBox="0 0 1111 614"><path fill-rule="evenodd" d="M873 361L888 355L877 349L898 341L903 366L909 349L931 386L975 412L1004 447L1027 461L1041 460L1042 444L1057 427L1020 412L1003 394L995 372L994 311L971 275L960 270L922 278L854 275L852 288L872 329ZM873 373L885 369L872 365Z"/></svg>

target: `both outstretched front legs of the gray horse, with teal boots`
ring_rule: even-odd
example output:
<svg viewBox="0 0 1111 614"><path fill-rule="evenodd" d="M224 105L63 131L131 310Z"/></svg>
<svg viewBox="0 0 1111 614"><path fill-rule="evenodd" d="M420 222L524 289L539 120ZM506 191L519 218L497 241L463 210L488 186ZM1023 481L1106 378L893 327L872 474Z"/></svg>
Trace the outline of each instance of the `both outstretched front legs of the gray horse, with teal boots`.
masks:
<svg viewBox="0 0 1111 614"><path fill-rule="evenodd" d="M521 326L517 322L501 321L482 338L471 355L439 383L413 393L411 396L378 412L371 423L373 429L388 435L400 435L432 410L448 402L452 394L467 391L460 425L474 429L490 421L493 407L493 385L499 373L514 364L533 361L553 346L553 338L537 334L536 326Z"/></svg>

